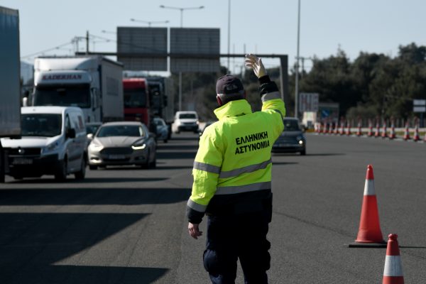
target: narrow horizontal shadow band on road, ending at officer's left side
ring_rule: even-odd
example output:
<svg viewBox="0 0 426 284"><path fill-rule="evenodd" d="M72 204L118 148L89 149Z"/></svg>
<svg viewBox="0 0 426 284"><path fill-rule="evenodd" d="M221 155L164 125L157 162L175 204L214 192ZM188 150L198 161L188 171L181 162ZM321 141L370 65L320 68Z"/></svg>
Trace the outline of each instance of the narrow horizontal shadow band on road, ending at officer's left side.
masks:
<svg viewBox="0 0 426 284"><path fill-rule="evenodd" d="M172 204L189 196L190 189L183 188L18 188L0 190L0 205Z"/></svg>

